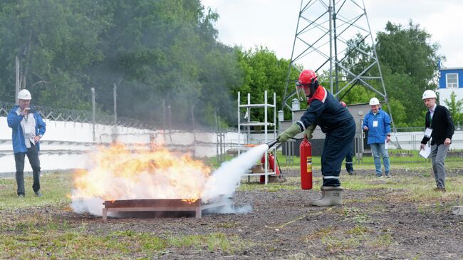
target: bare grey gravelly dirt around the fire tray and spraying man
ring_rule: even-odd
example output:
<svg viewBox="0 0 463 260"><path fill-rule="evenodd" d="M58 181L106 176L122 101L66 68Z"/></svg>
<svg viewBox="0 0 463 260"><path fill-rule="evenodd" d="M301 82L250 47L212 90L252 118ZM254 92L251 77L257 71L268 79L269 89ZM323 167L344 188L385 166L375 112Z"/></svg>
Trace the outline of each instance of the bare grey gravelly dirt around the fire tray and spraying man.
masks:
<svg viewBox="0 0 463 260"><path fill-rule="evenodd" d="M288 177L298 176L294 170L284 172ZM426 173L429 172L392 172L395 176ZM373 174L373 171L360 170L355 177L372 178ZM449 172L449 176L455 175L463 175L462 170ZM433 181L432 177L427 178ZM157 256L160 259L462 258L463 217L450 214L452 202L422 205L394 199L405 192L400 189L346 189L343 206L317 208L309 206L309 200L319 195L321 177L316 175L314 179L315 188L310 191L253 189L236 192L236 205L252 206L247 214L103 222L101 217L75 214L66 206L19 209L11 213L45 215L80 229L84 227L84 232L99 236L126 230L161 236L220 232L237 235L245 241L244 246L232 252L177 248L162 252Z"/></svg>

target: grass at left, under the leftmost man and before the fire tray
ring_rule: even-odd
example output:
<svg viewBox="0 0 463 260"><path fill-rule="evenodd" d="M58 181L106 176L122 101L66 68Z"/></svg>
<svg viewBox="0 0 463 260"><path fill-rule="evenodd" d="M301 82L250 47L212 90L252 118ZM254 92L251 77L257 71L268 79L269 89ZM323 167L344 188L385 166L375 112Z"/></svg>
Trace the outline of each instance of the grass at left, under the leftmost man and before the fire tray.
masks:
<svg viewBox="0 0 463 260"><path fill-rule="evenodd" d="M70 211L70 174L41 177L43 197L33 196L26 177L26 197L16 196L16 180L0 179L0 259L152 259L170 250L195 249L225 254L251 246L236 234L153 234L131 229L110 234L88 232L85 222L70 223L51 212ZM232 228L236 223L224 224Z"/></svg>

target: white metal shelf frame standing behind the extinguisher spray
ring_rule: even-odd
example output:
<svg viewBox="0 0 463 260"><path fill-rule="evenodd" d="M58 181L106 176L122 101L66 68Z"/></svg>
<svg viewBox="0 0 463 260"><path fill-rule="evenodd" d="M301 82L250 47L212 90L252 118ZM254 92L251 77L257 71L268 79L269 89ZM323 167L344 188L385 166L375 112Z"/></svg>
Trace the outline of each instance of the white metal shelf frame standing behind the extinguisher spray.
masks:
<svg viewBox="0 0 463 260"><path fill-rule="evenodd" d="M244 144L241 144L241 127L246 128L246 140L245 142L251 142L250 135L251 135L251 126L264 126L264 142L269 142L269 127L274 127L274 137L272 140L276 139L276 93L274 93L274 100L273 103L269 103L267 90L264 91L264 103L262 104L251 104L251 94L248 93L247 95L247 103L242 105L241 104L241 93L238 92L238 155L241 153L241 150L246 150L246 147L243 147ZM241 108L246 108L246 113L248 116L247 122L241 123ZM254 109L264 109L264 121L255 123L251 122L251 108ZM274 120L273 123L269 122L269 109L274 109ZM271 147L269 150L274 151L275 163L276 163L276 145ZM276 168L276 167L275 167ZM246 173L244 176L265 176L265 184L269 183L269 175L275 175L276 172L269 172L269 157L265 156L265 166L264 172L262 173Z"/></svg>

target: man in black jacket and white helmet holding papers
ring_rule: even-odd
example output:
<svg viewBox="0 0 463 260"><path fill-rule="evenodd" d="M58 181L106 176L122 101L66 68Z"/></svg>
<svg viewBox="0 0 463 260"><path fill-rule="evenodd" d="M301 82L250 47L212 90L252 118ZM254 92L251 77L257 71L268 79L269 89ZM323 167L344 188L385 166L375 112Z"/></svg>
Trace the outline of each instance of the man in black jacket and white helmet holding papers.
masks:
<svg viewBox="0 0 463 260"><path fill-rule="evenodd" d="M428 111L425 118L426 130L421 141L421 150L425 150L427 142L431 140L430 157L437 185L434 190L445 192L444 160L452 143L454 125L449 110L442 105L437 105L436 98L436 93L432 90L426 90L423 93L422 99ZM420 152L420 154L422 153L423 151Z"/></svg>

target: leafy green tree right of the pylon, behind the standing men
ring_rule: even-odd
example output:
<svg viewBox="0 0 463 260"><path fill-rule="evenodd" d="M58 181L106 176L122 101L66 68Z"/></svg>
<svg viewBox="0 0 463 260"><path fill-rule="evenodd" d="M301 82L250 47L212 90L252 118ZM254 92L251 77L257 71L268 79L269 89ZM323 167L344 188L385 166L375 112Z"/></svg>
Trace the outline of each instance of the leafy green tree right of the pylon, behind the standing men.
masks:
<svg viewBox="0 0 463 260"><path fill-rule="evenodd" d="M431 35L418 24L407 26L387 22L385 31L377 34L376 49L383 68L387 95L402 103L407 111L404 120L410 126L422 125L421 93L436 88L439 45L431 43ZM394 111L392 111L394 114Z"/></svg>

